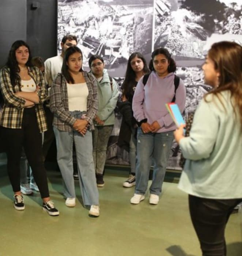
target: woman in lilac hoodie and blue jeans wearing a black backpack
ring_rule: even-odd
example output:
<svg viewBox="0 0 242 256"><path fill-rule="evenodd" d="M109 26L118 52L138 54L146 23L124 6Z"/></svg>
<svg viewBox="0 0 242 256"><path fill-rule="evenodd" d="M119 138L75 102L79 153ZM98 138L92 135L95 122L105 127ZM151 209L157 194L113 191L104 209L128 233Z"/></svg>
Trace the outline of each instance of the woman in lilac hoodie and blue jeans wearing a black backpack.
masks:
<svg viewBox="0 0 242 256"><path fill-rule="evenodd" d="M133 96L133 113L139 125L137 132L137 165L135 195L132 204L144 200L148 187L150 167L154 160L150 204L158 204L165 177L167 160L174 139L175 124L165 104L177 103L181 112L185 107L185 86L179 79L175 86L176 64L165 48L154 50L146 81L139 80Z"/></svg>

